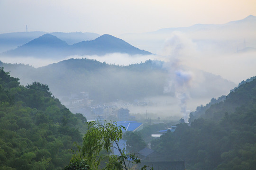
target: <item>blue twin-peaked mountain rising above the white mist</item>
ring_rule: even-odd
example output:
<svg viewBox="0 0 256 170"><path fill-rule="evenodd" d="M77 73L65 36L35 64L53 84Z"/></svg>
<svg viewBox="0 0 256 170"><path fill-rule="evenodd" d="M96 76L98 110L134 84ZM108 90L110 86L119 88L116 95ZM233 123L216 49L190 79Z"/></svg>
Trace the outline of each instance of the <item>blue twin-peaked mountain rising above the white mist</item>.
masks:
<svg viewBox="0 0 256 170"><path fill-rule="evenodd" d="M70 55L104 55L107 53L151 54L139 50L127 42L112 35L104 34L95 40L82 41L69 45L52 34L44 34L14 50L3 53L7 56L33 56L33 57L64 57Z"/></svg>

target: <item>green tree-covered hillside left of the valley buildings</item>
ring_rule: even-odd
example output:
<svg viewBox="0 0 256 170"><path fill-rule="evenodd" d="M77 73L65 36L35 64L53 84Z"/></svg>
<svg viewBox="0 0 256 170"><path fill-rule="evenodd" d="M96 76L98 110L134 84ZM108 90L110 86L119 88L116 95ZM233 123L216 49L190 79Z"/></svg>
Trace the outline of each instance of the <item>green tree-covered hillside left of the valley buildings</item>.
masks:
<svg viewBox="0 0 256 170"><path fill-rule="evenodd" d="M47 85L21 86L0 68L0 170L63 169L73 142L82 142L86 125L81 117L54 98Z"/></svg>

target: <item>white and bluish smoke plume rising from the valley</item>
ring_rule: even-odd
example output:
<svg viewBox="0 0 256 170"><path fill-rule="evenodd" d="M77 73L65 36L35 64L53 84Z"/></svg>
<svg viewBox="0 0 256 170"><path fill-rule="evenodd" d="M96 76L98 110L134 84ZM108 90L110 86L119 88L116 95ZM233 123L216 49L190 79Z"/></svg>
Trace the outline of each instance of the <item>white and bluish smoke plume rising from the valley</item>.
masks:
<svg viewBox="0 0 256 170"><path fill-rule="evenodd" d="M174 32L170 39L165 42L163 54L167 56L165 68L169 72L168 85L164 93L174 93L179 99L180 111L186 123L188 123L190 110L187 110L187 102L190 98L190 87L193 73L183 68L182 60L188 59L195 54L195 44L185 35Z"/></svg>

